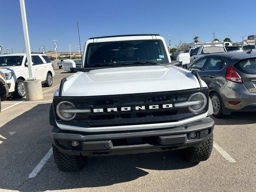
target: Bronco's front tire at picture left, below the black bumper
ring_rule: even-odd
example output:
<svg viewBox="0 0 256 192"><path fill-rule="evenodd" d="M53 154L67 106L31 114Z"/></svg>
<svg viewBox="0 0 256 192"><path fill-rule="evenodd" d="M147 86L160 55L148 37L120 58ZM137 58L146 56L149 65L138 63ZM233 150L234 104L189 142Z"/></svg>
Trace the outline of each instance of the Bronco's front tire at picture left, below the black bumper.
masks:
<svg viewBox="0 0 256 192"><path fill-rule="evenodd" d="M63 154L52 144L54 160L58 168L63 172L74 172L81 170L86 164L85 156Z"/></svg>

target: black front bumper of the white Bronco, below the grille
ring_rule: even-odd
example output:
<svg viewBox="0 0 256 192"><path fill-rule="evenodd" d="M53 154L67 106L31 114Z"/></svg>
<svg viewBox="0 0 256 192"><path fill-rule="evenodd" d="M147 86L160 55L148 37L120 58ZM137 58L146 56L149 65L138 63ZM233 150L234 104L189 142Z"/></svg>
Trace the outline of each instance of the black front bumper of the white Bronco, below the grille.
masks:
<svg viewBox="0 0 256 192"><path fill-rule="evenodd" d="M53 144L64 154L98 156L114 154L135 154L158 152L196 146L212 135L214 121L206 117L201 121L162 130L144 130L140 132L87 134L61 130L54 126L50 136ZM188 134L196 132L196 138ZM72 147L71 142L78 141L79 146Z"/></svg>

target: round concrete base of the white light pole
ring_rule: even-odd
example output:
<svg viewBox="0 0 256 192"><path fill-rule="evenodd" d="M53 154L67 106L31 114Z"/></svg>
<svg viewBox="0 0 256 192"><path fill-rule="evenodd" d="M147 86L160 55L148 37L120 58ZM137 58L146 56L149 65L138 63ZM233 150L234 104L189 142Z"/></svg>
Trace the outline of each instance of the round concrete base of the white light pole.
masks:
<svg viewBox="0 0 256 192"><path fill-rule="evenodd" d="M26 100L37 101L43 99L42 84L40 80L24 81Z"/></svg>

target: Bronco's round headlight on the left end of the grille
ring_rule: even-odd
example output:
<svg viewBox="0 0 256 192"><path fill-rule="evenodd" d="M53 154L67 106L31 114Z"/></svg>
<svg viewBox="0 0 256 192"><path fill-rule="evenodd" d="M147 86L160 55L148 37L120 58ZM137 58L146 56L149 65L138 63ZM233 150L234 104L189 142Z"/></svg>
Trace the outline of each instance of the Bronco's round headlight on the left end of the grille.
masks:
<svg viewBox="0 0 256 192"><path fill-rule="evenodd" d="M74 110L76 107L74 104L68 101L62 101L58 103L56 107L56 113L64 121L71 121L76 117L76 113L66 112L66 110Z"/></svg>

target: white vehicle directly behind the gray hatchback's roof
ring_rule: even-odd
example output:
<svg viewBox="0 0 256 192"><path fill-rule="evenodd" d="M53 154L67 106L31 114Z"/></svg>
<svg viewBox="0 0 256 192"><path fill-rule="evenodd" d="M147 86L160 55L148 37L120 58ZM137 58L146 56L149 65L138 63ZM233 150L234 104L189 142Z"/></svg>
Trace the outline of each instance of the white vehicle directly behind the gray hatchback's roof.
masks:
<svg viewBox="0 0 256 192"><path fill-rule="evenodd" d="M202 45L190 53L190 62L208 54L227 52L223 44Z"/></svg>

